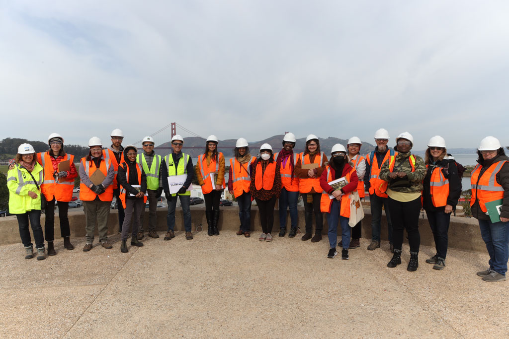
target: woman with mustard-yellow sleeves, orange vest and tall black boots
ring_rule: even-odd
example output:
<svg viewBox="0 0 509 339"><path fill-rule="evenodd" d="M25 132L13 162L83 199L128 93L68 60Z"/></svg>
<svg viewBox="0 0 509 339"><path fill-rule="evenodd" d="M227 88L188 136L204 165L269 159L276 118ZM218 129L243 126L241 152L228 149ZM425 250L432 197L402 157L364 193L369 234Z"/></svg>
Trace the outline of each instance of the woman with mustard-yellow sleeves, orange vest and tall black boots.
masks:
<svg viewBox="0 0 509 339"><path fill-rule="evenodd" d="M209 225L208 235L219 235L219 200L226 188L224 182L224 156L217 151L219 140L215 135L209 135L205 145L205 152L198 157L195 167L196 178L202 187L205 200L205 217ZM215 182L213 183L212 180Z"/></svg>

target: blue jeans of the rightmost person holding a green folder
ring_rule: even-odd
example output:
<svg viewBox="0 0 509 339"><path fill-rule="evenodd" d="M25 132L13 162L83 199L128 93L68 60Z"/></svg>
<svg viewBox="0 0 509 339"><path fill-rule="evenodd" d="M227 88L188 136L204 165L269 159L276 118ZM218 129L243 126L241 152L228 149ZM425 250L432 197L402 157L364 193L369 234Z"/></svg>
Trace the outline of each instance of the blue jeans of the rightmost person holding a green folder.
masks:
<svg viewBox="0 0 509 339"><path fill-rule="evenodd" d="M490 255L490 269L505 275L509 259L509 222L492 223L489 220L478 220L480 235L486 243Z"/></svg>

